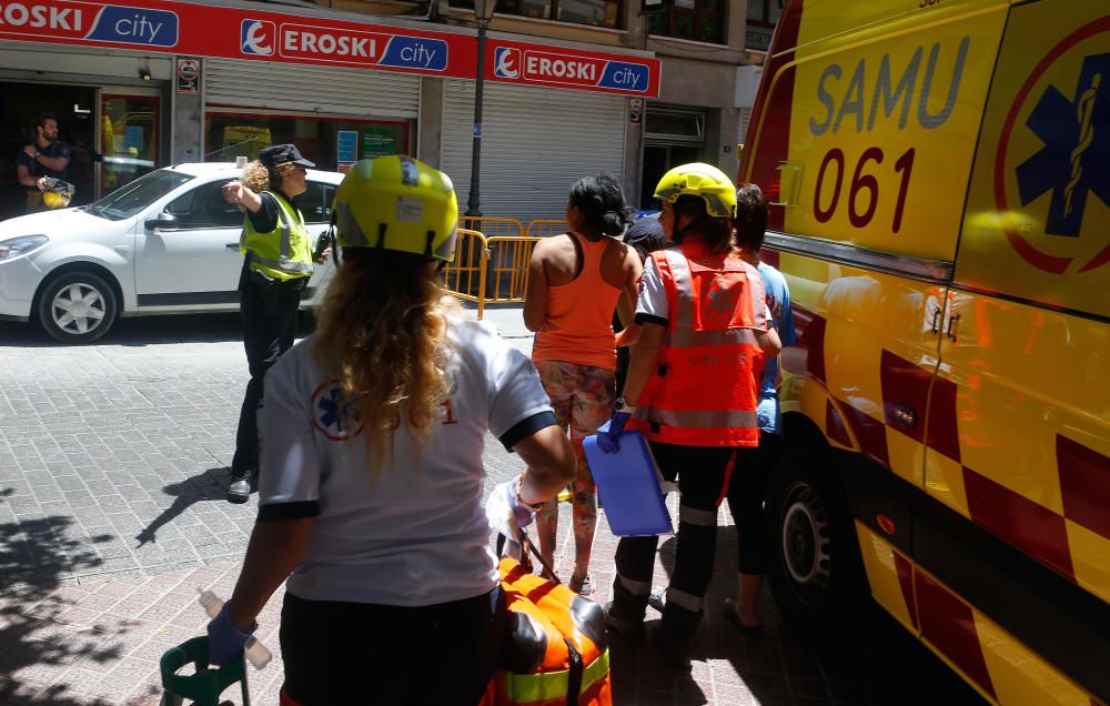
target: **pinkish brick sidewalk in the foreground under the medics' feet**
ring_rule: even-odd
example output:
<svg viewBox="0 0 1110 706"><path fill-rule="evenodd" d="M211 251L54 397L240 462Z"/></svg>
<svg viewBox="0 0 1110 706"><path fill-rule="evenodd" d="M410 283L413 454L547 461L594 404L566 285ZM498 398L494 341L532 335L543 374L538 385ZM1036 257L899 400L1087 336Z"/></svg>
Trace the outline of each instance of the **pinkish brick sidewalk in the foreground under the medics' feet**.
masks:
<svg viewBox="0 0 1110 706"><path fill-rule="evenodd" d="M672 512L674 513L674 498ZM564 503L556 571L571 574L574 539L569 507ZM602 511L604 515L604 511ZM723 523L730 523L722 512ZM533 531L534 533L534 531ZM598 524L591 569L595 601L609 599L616 538L604 516ZM745 639L719 618L716 608L735 592L728 567L735 533L724 530L718 542L718 571L709 591L707 619L695 641L694 670L678 676L648 650L615 641L612 645L616 704L831 704L864 703L848 677L829 674L816 655L793 639L780 639L780 626L768 603L761 606L765 639ZM674 539L662 543L655 583L663 586L673 566ZM74 555L80 562L80 554ZM196 588L231 595L239 574L235 562L172 571L154 576L24 584L0 598L0 704L58 706L154 706L161 688L158 659L162 653L203 634L206 618L196 604ZM282 682L278 627L284 591L279 589L259 616L258 637L274 653L262 672L249 668L252 702L278 703ZM658 619L648 611L648 622ZM230 696L238 703L234 689Z"/></svg>

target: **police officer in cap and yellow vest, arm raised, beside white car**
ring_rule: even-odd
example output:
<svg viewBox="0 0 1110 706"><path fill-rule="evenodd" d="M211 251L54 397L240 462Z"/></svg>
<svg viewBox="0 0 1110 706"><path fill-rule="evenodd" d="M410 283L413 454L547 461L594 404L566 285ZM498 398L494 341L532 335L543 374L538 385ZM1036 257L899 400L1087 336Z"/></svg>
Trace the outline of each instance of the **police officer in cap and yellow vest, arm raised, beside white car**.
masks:
<svg viewBox="0 0 1110 706"><path fill-rule="evenodd" d="M312 248L304 216L293 199L307 189L306 168L314 163L301 157L295 145L274 144L259 151L259 164L244 173L265 169L269 184L256 192L242 181L223 188L224 199L246 210L239 246L243 252L240 275L240 313L243 345L251 381L246 384L243 409L231 462L232 483L228 500L245 503L259 473L258 412L262 403L262 380L282 353L293 345L301 292L312 276ZM252 169L253 168L253 169ZM323 262L330 253L321 255Z"/></svg>

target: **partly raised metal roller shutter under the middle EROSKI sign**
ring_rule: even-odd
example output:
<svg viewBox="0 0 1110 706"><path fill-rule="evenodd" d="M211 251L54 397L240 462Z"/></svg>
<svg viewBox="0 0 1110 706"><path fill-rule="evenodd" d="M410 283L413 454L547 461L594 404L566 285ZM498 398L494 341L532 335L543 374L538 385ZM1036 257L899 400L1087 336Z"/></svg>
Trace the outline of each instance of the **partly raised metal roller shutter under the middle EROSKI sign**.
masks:
<svg viewBox="0 0 1110 706"><path fill-rule="evenodd" d="M376 118L416 118L420 77L335 67L208 59L204 101Z"/></svg>

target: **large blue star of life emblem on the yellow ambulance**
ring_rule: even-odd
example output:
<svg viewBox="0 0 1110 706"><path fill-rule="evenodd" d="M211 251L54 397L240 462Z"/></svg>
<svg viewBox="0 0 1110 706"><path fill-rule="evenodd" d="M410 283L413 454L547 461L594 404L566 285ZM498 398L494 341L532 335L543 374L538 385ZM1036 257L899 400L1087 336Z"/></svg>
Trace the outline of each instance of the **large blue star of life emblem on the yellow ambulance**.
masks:
<svg viewBox="0 0 1110 706"><path fill-rule="evenodd" d="M1087 196L1110 205L1110 53L1083 59L1071 100L1049 85L1026 125L1045 147L1018 165L1021 204L1051 191L1045 232L1078 238Z"/></svg>

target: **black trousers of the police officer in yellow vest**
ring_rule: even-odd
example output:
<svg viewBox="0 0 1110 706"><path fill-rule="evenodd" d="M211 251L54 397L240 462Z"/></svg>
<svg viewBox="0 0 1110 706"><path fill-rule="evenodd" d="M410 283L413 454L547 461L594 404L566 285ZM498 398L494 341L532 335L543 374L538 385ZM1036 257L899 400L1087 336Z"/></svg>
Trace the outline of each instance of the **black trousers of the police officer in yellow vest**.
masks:
<svg viewBox="0 0 1110 706"><path fill-rule="evenodd" d="M235 455L231 474L239 478L256 477L259 473L259 407L262 406L262 383L282 353L293 347L296 337L296 311L301 291L307 278L264 282L243 269L240 280L239 311L243 319L243 347L251 380L246 383L243 407L239 412Z"/></svg>

